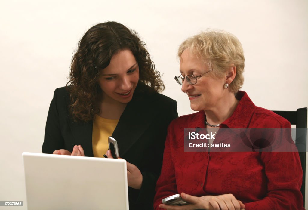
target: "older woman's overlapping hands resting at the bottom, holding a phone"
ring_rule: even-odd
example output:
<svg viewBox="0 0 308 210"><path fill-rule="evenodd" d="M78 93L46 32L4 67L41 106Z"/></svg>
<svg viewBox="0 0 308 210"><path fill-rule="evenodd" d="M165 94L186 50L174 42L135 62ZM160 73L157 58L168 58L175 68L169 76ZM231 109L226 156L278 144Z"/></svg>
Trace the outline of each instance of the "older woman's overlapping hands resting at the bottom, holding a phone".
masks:
<svg viewBox="0 0 308 210"><path fill-rule="evenodd" d="M245 208L245 205L241 201L236 200L232 194L196 197L182 192L181 197L189 204L184 206L160 204L159 207L167 210L243 210Z"/></svg>

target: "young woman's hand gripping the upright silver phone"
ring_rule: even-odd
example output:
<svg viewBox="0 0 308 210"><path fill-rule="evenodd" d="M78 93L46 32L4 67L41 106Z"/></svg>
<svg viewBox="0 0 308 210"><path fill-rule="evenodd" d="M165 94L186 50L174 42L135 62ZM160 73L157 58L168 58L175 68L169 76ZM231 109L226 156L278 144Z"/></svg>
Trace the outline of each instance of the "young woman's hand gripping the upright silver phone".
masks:
<svg viewBox="0 0 308 210"><path fill-rule="evenodd" d="M107 150L106 155L108 158L113 158L110 150ZM118 158L118 159L122 159L122 158ZM142 174L139 168L137 168L134 164L128 163L127 161L126 161L126 167L127 167L128 186L131 188L140 189L143 177L142 177Z"/></svg>

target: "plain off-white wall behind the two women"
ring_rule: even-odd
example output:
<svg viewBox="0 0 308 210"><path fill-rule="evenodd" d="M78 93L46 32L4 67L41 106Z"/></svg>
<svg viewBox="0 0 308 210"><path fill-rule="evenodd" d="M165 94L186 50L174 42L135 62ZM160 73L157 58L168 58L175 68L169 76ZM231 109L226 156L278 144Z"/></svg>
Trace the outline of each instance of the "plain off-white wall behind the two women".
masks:
<svg viewBox="0 0 308 210"><path fill-rule="evenodd" d="M177 47L207 28L241 41L246 91L270 110L308 107L308 1L5 1L0 8L0 201L24 201L22 152L41 152L53 91L65 86L71 57L91 26L118 21L147 43L163 73L163 94L189 114ZM306 202L307 203L307 202ZM0 207L8 209L9 207ZM26 209L26 207L10 207Z"/></svg>

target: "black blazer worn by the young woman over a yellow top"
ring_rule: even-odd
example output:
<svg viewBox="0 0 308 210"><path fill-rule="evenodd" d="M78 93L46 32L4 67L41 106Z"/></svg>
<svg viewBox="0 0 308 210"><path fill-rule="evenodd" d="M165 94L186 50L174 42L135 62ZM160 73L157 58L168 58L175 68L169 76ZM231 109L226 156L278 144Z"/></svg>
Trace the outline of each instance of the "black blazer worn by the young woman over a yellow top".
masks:
<svg viewBox="0 0 308 210"><path fill-rule="evenodd" d="M140 87L141 86L141 87ZM130 209L152 209L155 185L162 166L164 142L169 123L178 117L176 101L159 93L141 90L138 84L112 137L117 140L121 158L136 165L143 176L140 190L128 187ZM93 157L93 121L76 123L69 115L67 87L57 88L51 101L43 143L43 153L57 149L72 151L81 145L85 156Z"/></svg>

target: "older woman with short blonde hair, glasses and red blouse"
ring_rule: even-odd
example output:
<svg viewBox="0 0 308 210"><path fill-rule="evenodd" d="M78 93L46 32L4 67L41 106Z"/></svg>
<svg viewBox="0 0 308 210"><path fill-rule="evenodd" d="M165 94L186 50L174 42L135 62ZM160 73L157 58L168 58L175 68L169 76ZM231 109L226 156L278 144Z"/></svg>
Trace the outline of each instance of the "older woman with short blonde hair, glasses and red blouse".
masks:
<svg viewBox="0 0 308 210"><path fill-rule="evenodd" d="M294 144L295 152L184 152L184 128L290 128L286 119L255 106L239 91L245 59L238 39L207 31L185 40L178 56L176 82L199 112L168 127L154 208L303 209L302 168ZM161 204L177 193L190 204Z"/></svg>

